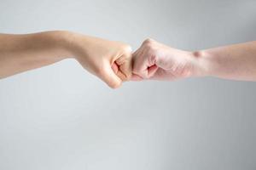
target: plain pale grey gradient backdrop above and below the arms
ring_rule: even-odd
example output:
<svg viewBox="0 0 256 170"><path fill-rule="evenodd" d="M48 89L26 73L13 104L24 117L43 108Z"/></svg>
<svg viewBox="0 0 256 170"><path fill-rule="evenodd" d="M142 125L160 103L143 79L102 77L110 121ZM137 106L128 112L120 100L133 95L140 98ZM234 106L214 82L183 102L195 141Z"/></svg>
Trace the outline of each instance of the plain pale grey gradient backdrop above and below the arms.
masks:
<svg viewBox="0 0 256 170"><path fill-rule="evenodd" d="M0 32L48 30L196 50L256 40L254 0L0 0ZM2 170L254 170L256 84L113 90L73 59L0 81Z"/></svg>

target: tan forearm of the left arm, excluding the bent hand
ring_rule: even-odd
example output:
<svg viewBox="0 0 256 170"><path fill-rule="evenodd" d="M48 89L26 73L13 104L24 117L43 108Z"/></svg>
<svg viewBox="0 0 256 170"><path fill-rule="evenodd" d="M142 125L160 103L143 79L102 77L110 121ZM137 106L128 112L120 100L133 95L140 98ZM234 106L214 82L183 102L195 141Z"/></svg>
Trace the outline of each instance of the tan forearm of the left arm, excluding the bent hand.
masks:
<svg viewBox="0 0 256 170"><path fill-rule="evenodd" d="M70 57L65 31L26 35L0 34L0 78Z"/></svg>

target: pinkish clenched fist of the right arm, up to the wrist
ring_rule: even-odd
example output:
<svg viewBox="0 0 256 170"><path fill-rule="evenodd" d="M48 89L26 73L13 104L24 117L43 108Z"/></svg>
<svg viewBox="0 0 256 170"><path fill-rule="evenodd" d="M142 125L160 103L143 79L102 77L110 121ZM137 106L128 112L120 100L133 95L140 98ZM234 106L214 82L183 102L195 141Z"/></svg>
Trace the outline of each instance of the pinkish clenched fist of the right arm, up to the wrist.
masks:
<svg viewBox="0 0 256 170"><path fill-rule="evenodd" d="M133 54L131 80L176 80L195 76L199 70L196 54L147 39Z"/></svg>

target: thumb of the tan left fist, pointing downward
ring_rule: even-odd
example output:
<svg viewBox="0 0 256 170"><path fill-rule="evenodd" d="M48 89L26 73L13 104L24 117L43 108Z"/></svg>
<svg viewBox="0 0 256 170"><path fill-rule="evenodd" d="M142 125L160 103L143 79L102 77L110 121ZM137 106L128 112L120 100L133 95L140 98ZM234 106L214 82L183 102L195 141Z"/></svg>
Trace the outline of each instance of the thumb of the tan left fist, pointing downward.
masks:
<svg viewBox="0 0 256 170"><path fill-rule="evenodd" d="M122 84L122 80L113 71L111 65L106 62L103 68L102 81L106 82L110 88L119 88Z"/></svg>

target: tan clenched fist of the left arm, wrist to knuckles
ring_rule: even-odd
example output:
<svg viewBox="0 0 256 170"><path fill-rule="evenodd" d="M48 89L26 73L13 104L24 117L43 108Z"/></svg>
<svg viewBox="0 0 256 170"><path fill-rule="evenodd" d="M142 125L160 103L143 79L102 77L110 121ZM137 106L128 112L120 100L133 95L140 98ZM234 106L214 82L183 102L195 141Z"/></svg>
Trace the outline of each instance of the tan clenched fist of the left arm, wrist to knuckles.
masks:
<svg viewBox="0 0 256 170"><path fill-rule="evenodd" d="M84 69L101 78L110 88L119 88L131 78L131 47L96 37L73 34L69 43Z"/></svg>

